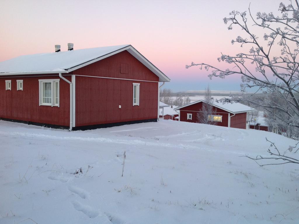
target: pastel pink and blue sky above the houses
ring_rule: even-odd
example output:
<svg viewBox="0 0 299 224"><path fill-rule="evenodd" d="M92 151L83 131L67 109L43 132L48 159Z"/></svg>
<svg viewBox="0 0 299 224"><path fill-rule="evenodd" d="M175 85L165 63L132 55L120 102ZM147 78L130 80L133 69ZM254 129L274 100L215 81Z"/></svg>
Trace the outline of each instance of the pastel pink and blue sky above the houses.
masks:
<svg viewBox="0 0 299 224"><path fill-rule="evenodd" d="M0 61L53 52L67 43L74 49L131 44L165 73L173 91L239 91L241 79L213 78L199 67L186 64L210 63L226 68L217 57L242 49L231 40L242 34L228 30L223 18L231 10L280 13L282 0L226 1L6 1L0 7ZM289 1L284 1L289 4ZM263 31L262 31L263 32ZM263 37L263 33L256 33Z"/></svg>

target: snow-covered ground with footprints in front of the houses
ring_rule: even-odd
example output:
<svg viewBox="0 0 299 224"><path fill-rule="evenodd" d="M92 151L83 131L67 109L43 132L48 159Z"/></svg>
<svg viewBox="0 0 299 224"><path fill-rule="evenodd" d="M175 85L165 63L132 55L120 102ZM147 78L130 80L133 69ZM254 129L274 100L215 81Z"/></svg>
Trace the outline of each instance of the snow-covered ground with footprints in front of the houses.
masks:
<svg viewBox="0 0 299 224"><path fill-rule="evenodd" d="M0 121L0 223L299 223L298 166L239 157L267 155L265 137L295 143L171 120L74 132Z"/></svg>

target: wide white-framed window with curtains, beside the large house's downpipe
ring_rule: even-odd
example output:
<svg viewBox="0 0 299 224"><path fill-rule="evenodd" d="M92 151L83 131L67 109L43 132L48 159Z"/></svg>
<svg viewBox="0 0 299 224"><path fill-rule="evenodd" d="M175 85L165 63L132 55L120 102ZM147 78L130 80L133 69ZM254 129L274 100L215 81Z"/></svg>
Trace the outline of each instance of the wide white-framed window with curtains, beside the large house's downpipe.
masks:
<svg viewBox="0 0 299 224"><path fill-rule="evenodd" d="M59 107L59 79L39 79L39 106Z"/></svg>

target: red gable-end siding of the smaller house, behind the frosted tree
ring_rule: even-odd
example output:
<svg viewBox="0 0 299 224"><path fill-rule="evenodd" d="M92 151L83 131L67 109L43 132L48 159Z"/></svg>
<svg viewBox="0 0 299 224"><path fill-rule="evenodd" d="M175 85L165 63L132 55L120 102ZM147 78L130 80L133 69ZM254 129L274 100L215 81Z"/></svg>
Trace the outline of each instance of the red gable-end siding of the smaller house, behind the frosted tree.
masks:
<svg viewBox="0 0 299 224"><path fill-rule="evenodd" d="M190 106L186 106L180 110L180 121L192 122L197 123L197 113L202 111L202 104L203 102L199 102ZM215 112L212 115L221 115L222 122L216 122L215 125L228 127L228 112L217 107L213 107ZM187 114L192 114L192 120L187 120ZM208 118L207 118L208 119Z"/></svg>

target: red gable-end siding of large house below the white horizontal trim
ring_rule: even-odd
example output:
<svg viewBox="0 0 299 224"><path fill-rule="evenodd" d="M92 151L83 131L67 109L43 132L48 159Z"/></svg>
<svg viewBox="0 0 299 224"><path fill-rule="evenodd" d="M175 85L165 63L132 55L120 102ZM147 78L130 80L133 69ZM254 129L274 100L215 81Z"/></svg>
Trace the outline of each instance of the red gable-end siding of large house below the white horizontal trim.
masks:
<svg viewBox="0 0 299 224"><path fill-rule="evenodd" d="M133 106L132 83L76 76L76 127L157 118L158 83L138 82L139 106Z"/></svg>

